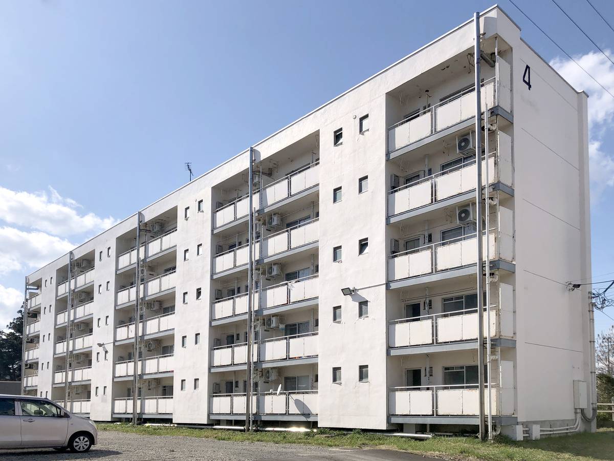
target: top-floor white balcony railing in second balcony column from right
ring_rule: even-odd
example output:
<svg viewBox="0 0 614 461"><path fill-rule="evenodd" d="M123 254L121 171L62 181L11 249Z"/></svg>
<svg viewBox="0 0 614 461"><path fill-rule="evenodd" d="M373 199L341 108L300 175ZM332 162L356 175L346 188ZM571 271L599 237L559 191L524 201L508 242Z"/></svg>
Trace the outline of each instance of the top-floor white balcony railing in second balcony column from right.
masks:
<svg viewBox="0 0 614 461"><path fill-rule="evenodd" d="M268 207L268 205L273 205L273 203L287 199L287 197L305 191L305 189L315 186L318 183L319 162L315 162L271 184L267 184L262 189L262 200L260 198L260 192L255 192L252 198L254 208ZM236 219L243 218L243 216L247 216L248 214L249 195L243 195L243 197L239 197L215 211L213 215L213 227L216 229L224 224L232 223L236 221Z"/></svg>

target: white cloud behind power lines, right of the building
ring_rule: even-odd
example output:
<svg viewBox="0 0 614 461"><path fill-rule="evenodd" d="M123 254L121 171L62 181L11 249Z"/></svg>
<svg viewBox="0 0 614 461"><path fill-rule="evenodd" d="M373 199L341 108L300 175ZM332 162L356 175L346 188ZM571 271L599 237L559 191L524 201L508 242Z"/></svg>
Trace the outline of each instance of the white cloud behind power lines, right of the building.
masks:
<svg viewBox="0 0 614 461"><path fill-rule="evenodd" d="M605 50L608 56L613 54ZM580 65L610 93L614 94L614 66L601 53L589 52L574 57ZM608 187L614 187L614 156L603 140L614 122L614 98L600 87L572 60L554 58L550 64L575 89L588 93L589 161L591 202L598 203Z"/></svg>

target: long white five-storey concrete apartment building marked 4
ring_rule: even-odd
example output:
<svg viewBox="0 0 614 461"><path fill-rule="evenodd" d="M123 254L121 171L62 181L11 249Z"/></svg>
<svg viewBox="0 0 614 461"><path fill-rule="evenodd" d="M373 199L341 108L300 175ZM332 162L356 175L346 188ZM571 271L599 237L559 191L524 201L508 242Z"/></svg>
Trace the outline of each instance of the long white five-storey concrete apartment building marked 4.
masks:
<svg viewBox="0 0 614 461"><path fill-rule="evenodd" d="M494 425L594 430L591 307L565 285L591 275L587 97L499 7L480 26ZM473 37L254 144L256 422L477 427ZM25 392L63 402L69 379L72 411L131 418L139 296L138 416L243 425L249 155L140 210L138 243L135 213L75 248L71 306L68 254L26 278Z"/></svg>

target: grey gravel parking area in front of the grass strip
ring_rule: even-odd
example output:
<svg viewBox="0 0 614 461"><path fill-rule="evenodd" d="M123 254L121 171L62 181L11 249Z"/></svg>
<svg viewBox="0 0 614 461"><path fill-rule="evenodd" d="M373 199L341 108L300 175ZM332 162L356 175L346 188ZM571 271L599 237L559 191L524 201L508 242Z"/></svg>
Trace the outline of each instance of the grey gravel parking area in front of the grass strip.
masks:
<svg viewBox="0 0 614 461"><path fill-rule="evenodd" d="M55 450L0 450L3 461L102 459L118 461L430 461L408 453L378 449L331 449L309 445L233 442L184 436L146 436L105 431L84 455Z"/></svg>

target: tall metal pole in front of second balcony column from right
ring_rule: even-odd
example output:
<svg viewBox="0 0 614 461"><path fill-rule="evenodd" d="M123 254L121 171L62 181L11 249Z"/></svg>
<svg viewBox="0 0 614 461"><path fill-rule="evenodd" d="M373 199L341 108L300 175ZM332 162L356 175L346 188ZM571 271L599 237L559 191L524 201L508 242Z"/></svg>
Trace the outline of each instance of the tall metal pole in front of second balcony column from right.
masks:
<svg viewBox="0 0 614 461"><path fill-rule="evenodd" d="M249 148L249 267L247 269L247 388L245 393L245 431L251 430L252 416L252 311L254 297L254 148Z"/></svg>

